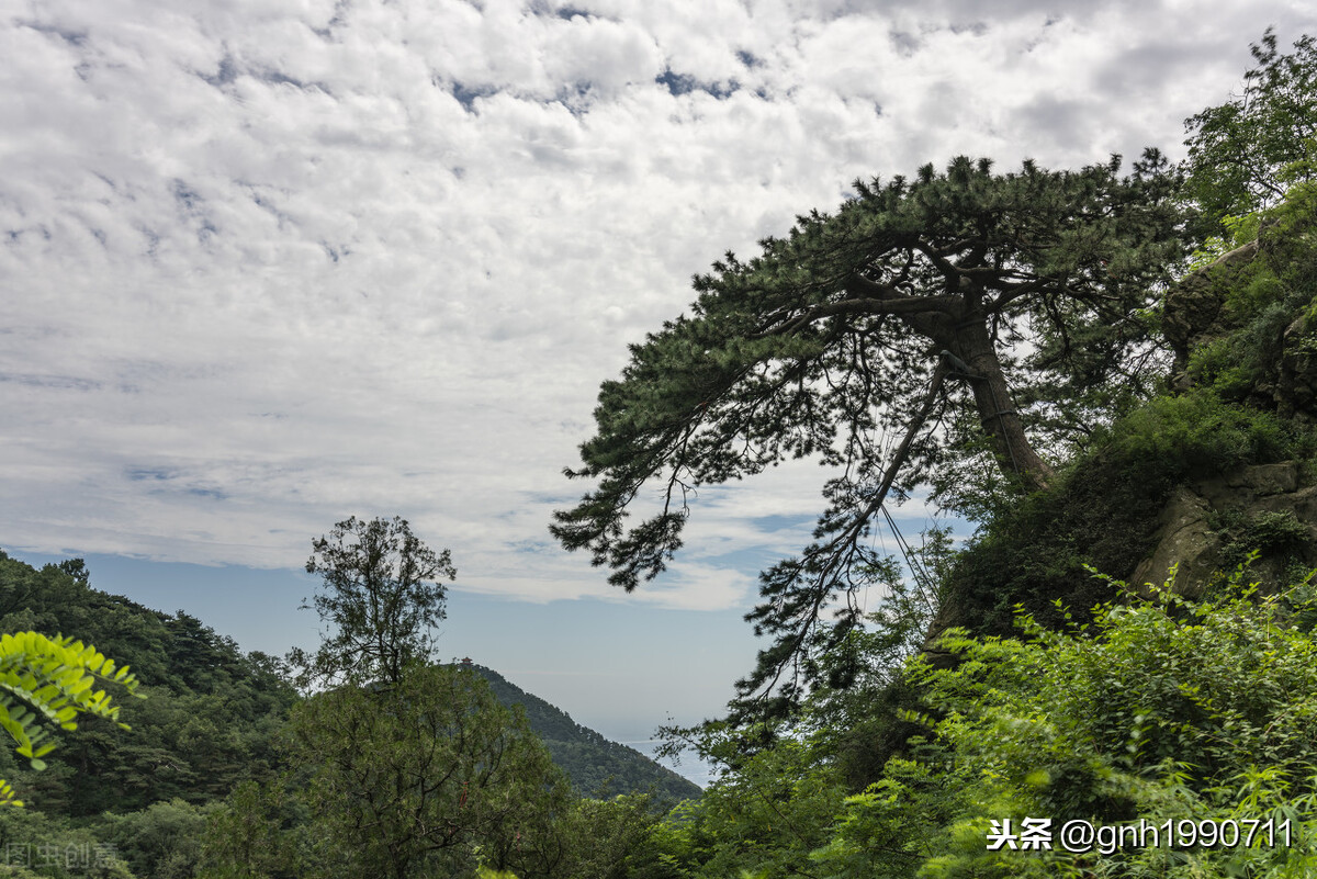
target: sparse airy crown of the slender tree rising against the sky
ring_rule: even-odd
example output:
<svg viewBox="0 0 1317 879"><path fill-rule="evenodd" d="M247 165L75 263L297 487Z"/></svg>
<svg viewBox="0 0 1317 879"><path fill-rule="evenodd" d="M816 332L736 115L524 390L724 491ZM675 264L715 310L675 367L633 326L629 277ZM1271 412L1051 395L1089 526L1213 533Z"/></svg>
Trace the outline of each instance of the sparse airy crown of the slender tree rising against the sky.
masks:
<svg viewBox="0 0 1317 879"><path fill-rule="evenodd" d="M308 574L324 576L311 605L333 626L315 657L294 650L307 682L396 683L412 662L427 662L444 618L446 587L457 576L448 550L435 553L406 518L349 517L312 541Z"/></svg>

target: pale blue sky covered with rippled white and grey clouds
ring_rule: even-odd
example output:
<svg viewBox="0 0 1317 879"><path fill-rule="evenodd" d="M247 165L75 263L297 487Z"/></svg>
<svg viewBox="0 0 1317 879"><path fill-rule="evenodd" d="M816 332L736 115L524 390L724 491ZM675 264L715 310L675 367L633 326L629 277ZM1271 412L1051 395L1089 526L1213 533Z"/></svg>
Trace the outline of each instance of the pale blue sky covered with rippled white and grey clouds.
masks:
<svg viewBox="0 0 1317 879"><path fill-rule="evenodd" d="M718 715L823 475L612 590L547 528L627 345L857 178L1180 158L1268 25L1310 4L0 0L0 547L282 654L312 538L403 516L441 654L622 741Z"/></svg>

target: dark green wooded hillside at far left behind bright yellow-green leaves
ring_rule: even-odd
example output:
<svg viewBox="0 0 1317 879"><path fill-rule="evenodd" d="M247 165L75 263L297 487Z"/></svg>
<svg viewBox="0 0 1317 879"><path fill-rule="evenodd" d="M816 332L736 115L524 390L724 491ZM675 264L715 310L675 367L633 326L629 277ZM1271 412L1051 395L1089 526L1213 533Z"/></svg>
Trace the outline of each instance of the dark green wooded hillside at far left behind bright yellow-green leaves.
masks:
<svg viewBox="0 0 1317 879"><path fill-rule="evenodd" d="M274 771L275 734L296 700L279 659L244 654L187 613L95 590L78 561L37 570L0 554L0 608L4 632L76 634L129 665L146 696L124 700L130 736L88 720L63 736L45 771L0 755L0 778L37 808L87 817L175 797L204 804Z"/></svg>

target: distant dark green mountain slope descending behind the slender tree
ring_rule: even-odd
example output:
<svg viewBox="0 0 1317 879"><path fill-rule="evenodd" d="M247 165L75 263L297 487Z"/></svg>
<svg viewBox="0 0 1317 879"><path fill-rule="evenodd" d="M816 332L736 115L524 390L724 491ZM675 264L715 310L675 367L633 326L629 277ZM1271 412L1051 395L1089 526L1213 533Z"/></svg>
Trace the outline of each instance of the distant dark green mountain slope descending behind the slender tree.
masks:
<svg viewBox="0 0 1317 879"><path fill-rule="evenodd" d="M531 729L544 740L553 762L562 767L572 786L586 796L608 793L643 793L653 791L661 800L685 800L701 795L693 782L660 766L633 747L610 742L572 720L561 708L551 705L493 668L470 663L470 668L490 682L498 700L507 707L520 705Z"/></svg>

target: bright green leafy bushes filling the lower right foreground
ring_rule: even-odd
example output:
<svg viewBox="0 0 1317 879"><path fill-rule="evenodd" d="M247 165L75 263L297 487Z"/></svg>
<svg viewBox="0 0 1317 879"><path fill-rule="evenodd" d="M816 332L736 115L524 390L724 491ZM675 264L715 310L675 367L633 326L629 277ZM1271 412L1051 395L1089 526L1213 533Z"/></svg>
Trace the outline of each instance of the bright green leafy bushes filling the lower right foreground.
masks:
<svg viewBox="0 0 1317 879"><path fill-rule="evenodd" d="M1104 579L1104 578L1100 578ZM656 876L932 879L1304 876L1317 865L1317 637L1301 590L1234 578L1218 599L1168 588L1106 604L1062 630L1017 615L1018 638L944 637L955 662L909 666L930 737L856 791L832 758L838 729L780 737L705 728L728 770L652 834ZM1073 618L1072 618L1073 617ZM835 699L831 693L823 699ZM814 711L817 705L811 705ZM1292 845L988 850L992 821L1048 817L1289 820ZM1054 836L1054 842L1056 837Z"/></svg>

